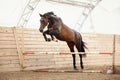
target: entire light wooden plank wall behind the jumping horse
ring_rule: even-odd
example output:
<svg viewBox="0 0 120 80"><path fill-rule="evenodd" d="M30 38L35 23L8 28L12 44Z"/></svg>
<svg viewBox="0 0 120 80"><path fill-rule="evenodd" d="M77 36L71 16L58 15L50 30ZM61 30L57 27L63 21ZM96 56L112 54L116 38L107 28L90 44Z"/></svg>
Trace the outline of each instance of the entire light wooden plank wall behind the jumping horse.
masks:
<svg viewBox="0 0 120 80"><path fill-rule="evenodd" d="M115 35L115 45L112 34L82 33L82 36L88 47L86 52L93 52L83 58L85 67L107 66L109 68L114 61L115 66L119 68L120 35ZM113 53L114 46L115 60L113 60L113 54L97 54L99 52ZM45 54L41 54L41 52ZM47 52L69 52L69 48L62 41L46 42L42 34L35 29L0 27L0 72L72 67L70 54L53 55L46 54ZM79 66L78 56L77 66Z"/></svg>

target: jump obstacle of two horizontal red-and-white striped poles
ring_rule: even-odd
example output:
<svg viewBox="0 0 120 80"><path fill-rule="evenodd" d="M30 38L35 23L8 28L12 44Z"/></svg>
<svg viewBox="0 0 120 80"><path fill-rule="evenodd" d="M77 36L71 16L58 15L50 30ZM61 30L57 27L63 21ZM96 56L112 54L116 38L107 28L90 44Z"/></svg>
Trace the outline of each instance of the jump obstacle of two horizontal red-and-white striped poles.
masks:
<svg viewBox="0 0 120 80"><path fill-rule="evenodd" d="M34 52L24 52L23 54L36 54ZM39 52L38 54L50 55L68 55L68 54L112 54L111 52ZM66 73L102 73L101 70L57 70L57 69L40 69L33 70L34 72L66 72Z"/></svg>

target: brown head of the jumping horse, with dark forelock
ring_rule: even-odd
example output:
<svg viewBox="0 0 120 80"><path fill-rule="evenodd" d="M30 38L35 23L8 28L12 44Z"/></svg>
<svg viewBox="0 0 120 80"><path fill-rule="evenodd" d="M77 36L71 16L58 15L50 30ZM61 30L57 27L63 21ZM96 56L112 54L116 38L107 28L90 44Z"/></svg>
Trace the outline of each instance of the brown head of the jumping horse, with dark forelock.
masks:
<svg viewBox="0 0 120 80"><path fill-rule="evenodd" d="M41 17L41 19L40 19L40 28L39 28L39 30L40 30L40 32L43 32L43 30L44 30L44 28L48 25L48 23L49 23L49 18L50 18L50 16L51 15L54 15L54 13L53 12L47 12L47 13L45 13L45 14L39 14L40 15L40 17Z"/></svg>

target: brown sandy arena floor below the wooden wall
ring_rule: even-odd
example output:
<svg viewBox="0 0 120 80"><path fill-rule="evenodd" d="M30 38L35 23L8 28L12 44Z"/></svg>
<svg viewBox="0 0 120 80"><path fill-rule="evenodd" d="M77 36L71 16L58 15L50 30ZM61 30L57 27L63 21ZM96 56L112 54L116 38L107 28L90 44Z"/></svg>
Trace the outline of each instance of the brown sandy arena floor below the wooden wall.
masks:
<svg viewBox="0 0 120 80"><path fill-rule="evenodd" d="M120 74L58 73L58 72L2 72L0 80L120 80Z"/></svg>

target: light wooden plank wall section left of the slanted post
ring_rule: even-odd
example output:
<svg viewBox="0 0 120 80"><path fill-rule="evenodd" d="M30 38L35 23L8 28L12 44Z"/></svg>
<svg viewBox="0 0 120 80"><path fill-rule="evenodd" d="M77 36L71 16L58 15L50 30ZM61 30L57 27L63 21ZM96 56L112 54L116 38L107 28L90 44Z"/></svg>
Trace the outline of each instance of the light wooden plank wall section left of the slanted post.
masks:
<svg viewBox="0 0 120 80"><path fill-rule="evenodd" d="M13 28L0 27L0 72L19 70L20 65Z"/></svg>

